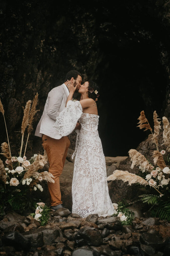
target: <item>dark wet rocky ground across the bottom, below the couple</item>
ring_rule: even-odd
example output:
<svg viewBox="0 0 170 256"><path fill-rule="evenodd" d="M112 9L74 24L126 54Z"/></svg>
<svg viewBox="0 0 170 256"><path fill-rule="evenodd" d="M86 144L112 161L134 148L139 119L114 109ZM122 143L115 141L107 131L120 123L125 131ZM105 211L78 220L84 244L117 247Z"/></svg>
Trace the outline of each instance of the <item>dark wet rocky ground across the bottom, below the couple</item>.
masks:
<svg viewBox="0 0 170 256"><path fill-rule="evenodd" d="M60 208L41 227L31 216L8 213L0 221L0 255L169 255L170 223L140 217L139 211L135 216L123 226L119 217L81 218Z"/></svg>

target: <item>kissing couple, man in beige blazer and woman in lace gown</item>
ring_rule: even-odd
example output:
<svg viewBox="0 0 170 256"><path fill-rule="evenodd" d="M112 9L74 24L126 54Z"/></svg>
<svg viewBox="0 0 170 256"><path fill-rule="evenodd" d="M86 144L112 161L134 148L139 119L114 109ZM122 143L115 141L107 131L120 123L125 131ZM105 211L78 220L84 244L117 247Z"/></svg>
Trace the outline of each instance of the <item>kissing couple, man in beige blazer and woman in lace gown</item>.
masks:
<svg viewBox="0 0 170 256"><path fill-rule="evenodd" d="M66 74L64 83L48 93L35 132L35 136L42 137L49 161L48 171L55 181L54 184L48 182L50 208L53 211L65 208L61 201L59 178L70 146L68 135L75 129L72 213L83 218L90 214L111 216L116 211L109 197L105 157L97 130L99 88L93 81L81 82L81 74L71 70ZM81 94L80 101L72 100L75 90Z"/></svg>

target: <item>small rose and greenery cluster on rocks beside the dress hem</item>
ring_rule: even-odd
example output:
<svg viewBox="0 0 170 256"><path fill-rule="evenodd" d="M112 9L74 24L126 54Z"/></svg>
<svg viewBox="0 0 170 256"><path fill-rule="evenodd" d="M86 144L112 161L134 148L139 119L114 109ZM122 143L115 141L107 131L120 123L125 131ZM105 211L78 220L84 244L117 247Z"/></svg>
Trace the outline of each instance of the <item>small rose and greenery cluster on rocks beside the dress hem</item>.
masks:
<svg viewBox="0 0 170 256"><path fill-rule="evenodd" d="M134 212L126 208L126 204L124 202L119 202L118 204L113 203L114 209L116 210L116 214L113 216L120 217L120 221L122 225L130 225L132 224L132 220L134 219Z"/></svg>

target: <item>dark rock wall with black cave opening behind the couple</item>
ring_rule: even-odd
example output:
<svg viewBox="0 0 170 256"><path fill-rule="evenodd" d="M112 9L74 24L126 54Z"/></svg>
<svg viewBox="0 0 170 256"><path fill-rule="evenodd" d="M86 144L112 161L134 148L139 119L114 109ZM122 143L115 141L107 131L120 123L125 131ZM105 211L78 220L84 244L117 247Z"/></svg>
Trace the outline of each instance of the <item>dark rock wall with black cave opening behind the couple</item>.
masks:
<svg viewBox="0 0 170 256"><path fill-rule="evenodd" d="M105 155L127 155L145 138L141 110L169 115L170 1L1 1L0 97L12 155L22 108L38 92L34 130L48 92L76 69L100 87L99 134ZM7 140L0 114L0 143ZM26 136L25 136L26 140ZM25 143L25 141L24 141ZM72 143L72 147L74 147ZM42 152L30 136L27 155Z"/></svg>

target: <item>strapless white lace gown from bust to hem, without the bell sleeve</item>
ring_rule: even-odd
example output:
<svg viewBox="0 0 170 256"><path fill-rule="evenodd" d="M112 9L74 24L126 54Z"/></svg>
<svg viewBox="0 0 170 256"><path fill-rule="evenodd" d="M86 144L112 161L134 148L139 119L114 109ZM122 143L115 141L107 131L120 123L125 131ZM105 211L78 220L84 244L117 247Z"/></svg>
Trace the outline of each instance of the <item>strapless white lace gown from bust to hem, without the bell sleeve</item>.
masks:
<svg viewBox="0 0 170 256"><path fill-rule="evenodd" d="M89 214L106 217L116 211L109 197L106 163L98 134L98 115L83 113L77 132L72 212L85 218Z"/></svg>

